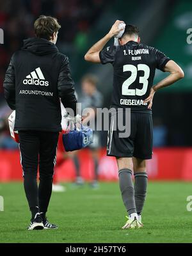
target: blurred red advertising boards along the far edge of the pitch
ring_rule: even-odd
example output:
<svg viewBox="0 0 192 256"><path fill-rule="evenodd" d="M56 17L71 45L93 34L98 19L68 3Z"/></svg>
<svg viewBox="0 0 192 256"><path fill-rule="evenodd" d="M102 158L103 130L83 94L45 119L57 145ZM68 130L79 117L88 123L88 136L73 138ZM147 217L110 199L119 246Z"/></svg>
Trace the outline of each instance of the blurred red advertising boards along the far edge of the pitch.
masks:
<svg viewBox="0 0 192 256"><path fill-rule="evenodd" d="M63 151L58 150L55 178L57 181L74 181L75 167L72 159L63 158ZM83 149L78 154L81 175L86 181L93 178L93 161L89 149ZM22 180L22 168L19 162L19 151L0 151L0 180ZM189 148L159 148L154 149L152 160L147 162L148 178L153 180L192 180L192 149ZM115 158L106 156L106 149L100 149L99 179L101 181L116 181L118 170Z"/></svg>

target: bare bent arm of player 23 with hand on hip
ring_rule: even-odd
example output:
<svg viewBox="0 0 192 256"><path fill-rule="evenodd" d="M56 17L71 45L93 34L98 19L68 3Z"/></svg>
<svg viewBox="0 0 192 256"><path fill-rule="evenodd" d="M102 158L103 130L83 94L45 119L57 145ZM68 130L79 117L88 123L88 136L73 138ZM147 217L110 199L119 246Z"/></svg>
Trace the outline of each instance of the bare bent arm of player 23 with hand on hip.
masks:
<svg viewBox="0 0 192 256"><path fill-rule="evenodd" d="M148 104L148 109L151 109L151 107L152 107L152 100L153 100L154 94L156 93L157 90L167 87L167 86L170 86L171 84L177 82L179 79L184 77L184 71L173 60L169 60L166 63L166 65L164 66L164 71L169 72L170 75L168 75L168 77L164 78L163 80L161 80L160 82L155 84L150 89L150 95L144 101L144 103L150 102Z"/></svg>

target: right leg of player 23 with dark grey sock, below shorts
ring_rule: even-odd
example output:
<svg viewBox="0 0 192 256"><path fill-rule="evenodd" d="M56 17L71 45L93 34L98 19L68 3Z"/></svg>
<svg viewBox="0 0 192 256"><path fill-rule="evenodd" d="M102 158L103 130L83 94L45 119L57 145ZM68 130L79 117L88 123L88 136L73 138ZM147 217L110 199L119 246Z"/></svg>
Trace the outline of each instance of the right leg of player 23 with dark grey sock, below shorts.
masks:
<svg viewBox="0 0 192 256"><path fill-rule="evenodd" d="M141 212L145 203L145 197L147 194L147 172L146 172L146 160L140 158L132 158L133 170L134 170L134 198L136 203L136 210L138 214L138 221L141 226Z"/></svg>

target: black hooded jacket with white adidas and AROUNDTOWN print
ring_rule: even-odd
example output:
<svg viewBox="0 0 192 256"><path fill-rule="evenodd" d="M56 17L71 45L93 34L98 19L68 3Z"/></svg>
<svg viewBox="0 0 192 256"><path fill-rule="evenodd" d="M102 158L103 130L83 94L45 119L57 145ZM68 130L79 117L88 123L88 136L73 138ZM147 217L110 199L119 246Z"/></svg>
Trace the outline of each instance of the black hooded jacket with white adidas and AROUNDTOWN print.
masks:
<svg viewBox="0 0 192 256"><path fill-rule="evenodd" d="M24 40L4 78L4 96L16 110L15 131L61 131L61 102L76 115L68 57L45 39Z"/></svg>

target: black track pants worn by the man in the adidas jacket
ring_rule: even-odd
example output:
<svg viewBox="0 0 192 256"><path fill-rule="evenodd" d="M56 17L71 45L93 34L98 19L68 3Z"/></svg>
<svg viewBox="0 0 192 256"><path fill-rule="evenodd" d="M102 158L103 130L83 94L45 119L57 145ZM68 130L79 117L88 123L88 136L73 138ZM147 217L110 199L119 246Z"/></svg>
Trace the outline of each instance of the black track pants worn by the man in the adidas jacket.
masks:
<svg viewBox="0 0 192 256"><path fill-rule="evenodd" d="M20 163L23 169L24 190L29 207L38 206L40 212L47 212L51 197L58 136L58 132L19 131ZM39 186L36 182L38 168Z"/></svg>

